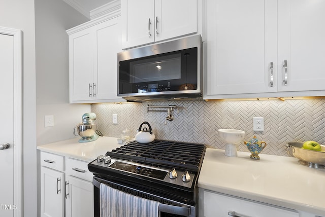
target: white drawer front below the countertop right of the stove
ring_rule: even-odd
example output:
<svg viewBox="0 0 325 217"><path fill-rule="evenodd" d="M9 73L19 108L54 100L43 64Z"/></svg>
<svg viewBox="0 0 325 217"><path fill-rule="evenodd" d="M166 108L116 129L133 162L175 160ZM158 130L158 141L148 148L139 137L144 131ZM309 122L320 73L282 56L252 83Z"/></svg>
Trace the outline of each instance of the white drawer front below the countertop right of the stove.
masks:
<svg viewBox="0 0 325 217"><path fill-rule="evenodd" d="M298 217L299 213L265 203L204 191L204 217Z"/></svg>

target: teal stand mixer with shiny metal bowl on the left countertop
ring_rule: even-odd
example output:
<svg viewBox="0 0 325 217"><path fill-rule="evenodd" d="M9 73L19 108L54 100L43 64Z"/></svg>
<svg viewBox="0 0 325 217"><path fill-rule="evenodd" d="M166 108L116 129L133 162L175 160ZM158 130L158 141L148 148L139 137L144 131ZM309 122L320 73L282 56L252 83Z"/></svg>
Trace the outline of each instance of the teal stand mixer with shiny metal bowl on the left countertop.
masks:
<svg viewBox="0 0 325 217"><path fill-rule="evenodd" d="M82 123L78 124L73 129L73 134L75 136L81 136L79 142L89 142L94 141L99 138L98 130L96 130L97 125L94 123L96 120L95 113L85 113L82 116ZM76 132L77 129L77 132ZM101 134L101 133L100 133Z"/></svg>

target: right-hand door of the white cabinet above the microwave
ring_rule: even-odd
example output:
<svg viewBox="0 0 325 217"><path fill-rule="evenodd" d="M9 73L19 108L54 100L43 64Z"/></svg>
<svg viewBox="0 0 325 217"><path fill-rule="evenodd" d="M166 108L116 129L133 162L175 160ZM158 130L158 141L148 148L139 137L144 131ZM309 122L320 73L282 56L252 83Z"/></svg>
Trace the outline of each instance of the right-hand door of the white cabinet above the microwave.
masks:
<svg viewBox="0 0 325 217"><path fill-rule="evenodd" d="M155 0L155 41L198 31L197 0Z"/></svg>

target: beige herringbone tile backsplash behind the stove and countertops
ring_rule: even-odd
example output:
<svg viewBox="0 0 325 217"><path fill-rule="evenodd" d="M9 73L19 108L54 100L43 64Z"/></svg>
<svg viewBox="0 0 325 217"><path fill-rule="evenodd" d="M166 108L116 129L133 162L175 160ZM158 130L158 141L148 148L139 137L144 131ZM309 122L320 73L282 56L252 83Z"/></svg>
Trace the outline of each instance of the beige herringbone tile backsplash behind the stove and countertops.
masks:
<svg viewBox="0 0 325 217"><path fill-rule="evenodd" d="M173 111L174 120L166 122L167 112L147 113L147 104L180 108L179 113ZM217 149L225 148L217 131L222 128L245 131L246 141L254 135L266 141L263 154L286 155L284 145L288 141L325 143L325 99L93 104L91 112L97 115L98 130L112 137L120 137L123 128L134 136L147 121L157 139L204 143ZM118 124L112 124L113 114L117 114ZM264 117L263 132L253 131L253 117ZM244 142L237 150L248 152Z"/></svg>

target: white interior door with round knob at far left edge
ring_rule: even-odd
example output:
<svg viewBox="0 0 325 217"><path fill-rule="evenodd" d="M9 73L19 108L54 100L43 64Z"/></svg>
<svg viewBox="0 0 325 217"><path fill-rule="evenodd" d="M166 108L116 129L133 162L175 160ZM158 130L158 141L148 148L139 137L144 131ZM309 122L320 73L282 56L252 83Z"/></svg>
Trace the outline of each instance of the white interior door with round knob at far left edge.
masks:
<svg viewBox="0 0 325 217"><path fill-rule="evenodd" d="M0 34L0 216L14 216L14 37ZM7 149L5 144L9 144Z"/></svg>

